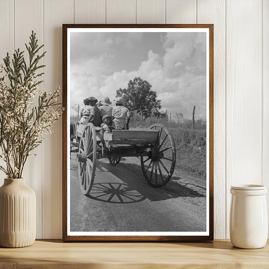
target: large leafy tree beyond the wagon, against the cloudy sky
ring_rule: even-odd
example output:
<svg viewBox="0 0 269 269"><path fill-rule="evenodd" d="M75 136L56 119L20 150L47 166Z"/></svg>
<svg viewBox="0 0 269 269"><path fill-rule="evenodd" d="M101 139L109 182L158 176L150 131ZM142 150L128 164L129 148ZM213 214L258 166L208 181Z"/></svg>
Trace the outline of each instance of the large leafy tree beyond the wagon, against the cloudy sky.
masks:
<svg viewBox="0 0 269 269"><path fill-rule="evenodd" d="M141 77L129 80L127 89L119 89L116 97L122 97L124 105L130 111L142 111L146 118L161 108L161 100L157 99L156 91L151 90L151 84Z"/></svg>

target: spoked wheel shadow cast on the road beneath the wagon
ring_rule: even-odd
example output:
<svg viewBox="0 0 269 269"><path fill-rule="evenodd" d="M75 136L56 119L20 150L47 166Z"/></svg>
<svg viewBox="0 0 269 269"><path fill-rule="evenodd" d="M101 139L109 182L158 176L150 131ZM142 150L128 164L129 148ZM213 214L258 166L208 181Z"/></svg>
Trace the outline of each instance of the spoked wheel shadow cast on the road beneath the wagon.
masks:
<svg viewBox="0 0 269 269"><path fill-rule="evenodd" d="M87 197L114 204L137 203L146 199L125 183L95 183Z"/></svg>

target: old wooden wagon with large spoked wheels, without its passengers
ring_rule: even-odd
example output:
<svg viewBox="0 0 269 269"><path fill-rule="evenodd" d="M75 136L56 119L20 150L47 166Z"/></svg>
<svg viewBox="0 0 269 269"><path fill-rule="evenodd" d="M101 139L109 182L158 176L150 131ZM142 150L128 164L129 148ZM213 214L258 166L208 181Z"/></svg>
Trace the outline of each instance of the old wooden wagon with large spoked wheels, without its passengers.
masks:
<svg viewBox="0 0 269 269"><path fill-rule="evenodd" d="M92 123L76 126L77 162L80 187L88 194L93 186L97 160L108 158L117 165L122 157L140 157L141 168L147 182L154 187L169 182L175 169L176 149L170 131L155 123L150 128L130 128L104 133ZM74 151L73 151L74 152Z"/></svg>

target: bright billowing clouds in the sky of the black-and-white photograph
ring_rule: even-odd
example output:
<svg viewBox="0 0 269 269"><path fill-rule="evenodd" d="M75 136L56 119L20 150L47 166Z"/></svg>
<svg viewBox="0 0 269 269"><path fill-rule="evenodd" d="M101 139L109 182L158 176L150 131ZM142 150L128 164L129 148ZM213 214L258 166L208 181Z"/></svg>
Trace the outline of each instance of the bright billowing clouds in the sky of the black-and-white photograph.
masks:
<svg viewBox="0 0 269 269"><path fill-rule="evenodd" d="M143 49L142 35L125 34L114 39L109 36L107 39L121 43L124 37L126 44L135 40ZM131 71L124 68L113 72L107 58L103 56L109 49L104 47L87 61L74 61L71 65L71 106L82 103L84 98L91 95L98 100L105 96L113 100L117 89L127 87L129 80L140 76L150 82L152 90L157 92L162 110L167 109L172 114L189 114L193 105L196 105L196 111L206 115L206 34L165 33L162 44L165 51L163 55L149 50L147 59ZM123 50L122 47L119 49Z"/></svg>

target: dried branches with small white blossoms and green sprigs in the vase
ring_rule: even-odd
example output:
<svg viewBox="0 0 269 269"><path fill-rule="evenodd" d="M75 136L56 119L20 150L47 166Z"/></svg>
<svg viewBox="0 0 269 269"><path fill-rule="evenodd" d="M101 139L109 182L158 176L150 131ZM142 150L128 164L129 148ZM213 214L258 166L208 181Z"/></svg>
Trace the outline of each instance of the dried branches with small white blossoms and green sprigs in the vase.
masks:
<svg viewBox="0 0 269 269"><path fill-rule="evenodd" d="M8 178L22 177L27 157L32 155L30 151L46 139L46 134L53 132L52 123L59 119L63 111L57 99L59 85L52 93L38 88L43 81L37 81L37 77L44 74L38 74L38 69L45 66L38 66L38 62L46 52L37 55L44 45L38 47L33 31L29 46L25 46L29 65L24 60L24 52L19 49L13 54L12 66L9 54L3 59L5 67L0 65L0 158L6 163L0 169ZM36 96L38 105L35 105Z"/></svg>

